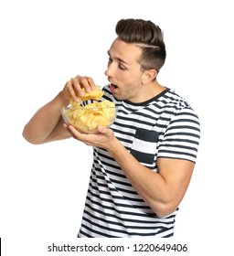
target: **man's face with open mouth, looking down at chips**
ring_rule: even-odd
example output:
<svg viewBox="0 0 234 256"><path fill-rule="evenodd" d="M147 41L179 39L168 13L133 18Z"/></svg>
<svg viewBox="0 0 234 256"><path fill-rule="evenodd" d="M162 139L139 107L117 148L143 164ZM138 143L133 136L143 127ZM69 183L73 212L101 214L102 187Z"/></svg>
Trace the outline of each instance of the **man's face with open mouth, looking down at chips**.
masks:
<svg viewBox="0 0 234 256"><path fill-rule="evenodd" d="M146 93L142 84L144 72L137 62L141 53L141 48L127 44L118 37L108 51L110 59L105 75L111 82L113 96L118 100L140 102Z"/></svg>

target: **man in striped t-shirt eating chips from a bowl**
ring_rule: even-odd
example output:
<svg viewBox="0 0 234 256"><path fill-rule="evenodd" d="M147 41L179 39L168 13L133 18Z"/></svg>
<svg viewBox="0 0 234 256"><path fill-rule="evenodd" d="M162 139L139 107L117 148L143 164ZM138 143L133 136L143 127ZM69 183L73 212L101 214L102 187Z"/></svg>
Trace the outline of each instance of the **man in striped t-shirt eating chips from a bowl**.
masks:
<svg viewBox="0 0 234 256"><path fill-rule="evenodd" d="M171 237L196 163L199 121L156 79L166 55L160 27L122 19L116 34L105 71L110 84L101 99L116 105L112 126L85 134L64 124L62 106L70 97L78 101L81 89L95 89L90 77L77 76L36 112L23 135L32 144L74 137L93 146L79 237Z"/></svg>

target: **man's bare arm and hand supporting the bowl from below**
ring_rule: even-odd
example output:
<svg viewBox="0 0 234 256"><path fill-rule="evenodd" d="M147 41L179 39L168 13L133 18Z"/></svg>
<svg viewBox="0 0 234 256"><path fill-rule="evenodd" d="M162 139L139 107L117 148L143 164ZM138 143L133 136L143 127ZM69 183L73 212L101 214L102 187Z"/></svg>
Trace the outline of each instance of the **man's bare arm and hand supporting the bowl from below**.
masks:
<svg viewBox="0 0 234 256"><path fill-rule="evenodd" d="M176 210L186 194L195 164L190 161L158 158L158 173L139 163L111 129L98 126L100 133L79 133L71 125L67 126L72 135L81 142L105 148L120 165L137 193L159 217L165 217Z"/></svg>

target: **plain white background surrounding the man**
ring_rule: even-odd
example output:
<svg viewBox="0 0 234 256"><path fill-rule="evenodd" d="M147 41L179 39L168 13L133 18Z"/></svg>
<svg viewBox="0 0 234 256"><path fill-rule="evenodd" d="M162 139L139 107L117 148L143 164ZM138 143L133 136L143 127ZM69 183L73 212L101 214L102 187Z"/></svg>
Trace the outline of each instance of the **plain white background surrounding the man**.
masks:
<svg viewBox="0 0 234 256"><path fill-rule="evenodd" d="M88 75L97 84L107 83L107 50L117 21L128 17L150 19L164 30L167 59L158 81L186 98L201 123L196 169L171 242L187 243L186 255L229 255L234 213L231 2L0 2L4 256L42 256L52 242L80 242L76 235L89 182L91 148L75 140L32 145L21 134L34 112L71 77Z"/></svg>

